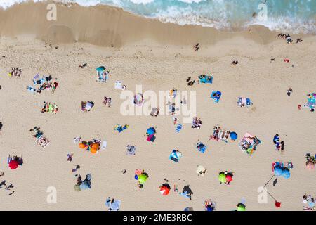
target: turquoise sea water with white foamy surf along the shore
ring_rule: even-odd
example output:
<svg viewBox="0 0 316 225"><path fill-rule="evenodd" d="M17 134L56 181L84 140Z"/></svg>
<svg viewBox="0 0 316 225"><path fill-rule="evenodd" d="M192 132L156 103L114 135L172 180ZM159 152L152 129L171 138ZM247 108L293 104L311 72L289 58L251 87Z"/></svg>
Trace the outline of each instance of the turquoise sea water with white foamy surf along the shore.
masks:
<svg viewBox="0 0 316 225"><path fill-rule="evenodd" d="M0 6L23 0L1 0ZM37 0L39 1L39 0ZM107 4L148 18L218 29L264 25L283 32L316 33L316 0L69 0L82 6ZM1 3L2 2L2 3ZM260 6L258 8L258 6ZM264 8L266 8L265 18ZM257 13L259 17L253 17Z"/></svg>

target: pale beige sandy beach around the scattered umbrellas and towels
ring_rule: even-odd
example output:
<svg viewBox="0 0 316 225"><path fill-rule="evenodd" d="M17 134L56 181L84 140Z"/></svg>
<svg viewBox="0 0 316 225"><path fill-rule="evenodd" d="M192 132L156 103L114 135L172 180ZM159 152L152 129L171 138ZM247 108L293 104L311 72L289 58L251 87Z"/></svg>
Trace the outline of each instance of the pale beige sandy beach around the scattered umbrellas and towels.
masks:
<svg viewBox="0 0 316 225"><path fill-rule="evenodd" d="M245 200L246 210L303 210L302 197L316 197L316 173L305 167L305 155L316 154L315 112L304 105L307 94L316 91L316 37L295 34L303 42L287 44L279 32L261 26L225 32L210 27L180 26L140 18L110 6L82 7L57 4L58 20L46 20L47 3L15 5L0 10L0 181L14 185L13 195L0 188L0 210L107 210L107 197L121 200L120 210L204 210L204 200L216 202L216 210L235 210ZM192 46L199 43L199 51ZM2 57L4 56L4 57ZM275 60L271 61L271 58ZM289 63L284 62L288 58ZM237 65L231 65L238 60ZM86 68L79 65L87 63ZM96 68L110 70L106 83L96 82ZM10 77L12 67L20 77ZM58 88L33 93L26 89L35 75L57 78ZM187 86L187 77L198 80L213 75L213 84ZM197 117L201 129L183 124L176 133L172 115L121 115L121 81L127 90L196 91ZM293 89L291 96L287 90ZM212 90L220 90L218 103ZM104 96L112 106L103 105ZM249 108L237 105L238 97L251 98ZM58 113L41 113L44 101L56 103ZM93 101L90 112L81 101ZM189 99L188 99L189 101ZM178 120L182 119L177 116ZM118 133L116 124L129 124ZM50 144L42 149L29 129L40 127ZM146 141L148 127L157 127L156 140ZM237 141L209 140L213 127L235 131ZM249 156L238 143L244 134L257 136L261 144ZM282 155L273 136L285 142ZM72 140L102 139L107 148L91 154ZM200 153L197 140L208 147ZM136 145L136 155L126 155L126 146ZM169 160L173 149L183 153L179 162ZM67 154L74 153L72 162ZM8 167L8 155L22 155L24 164ZM267 185L275 200L258 203L258 188L273 176L272 163L292 162L291 177ZM80 165L81 176L92 174L91 189L74 191L72 169ZM207 169L198 176L197 165ZM126 173L122 174L122 170ZM136 169L149 174L144 188L134 179ZM229 186L219 184L218 173L234 172ZM167 179L170 194L159 186ZM173 191L190 184L192 200ZM47 203L47 188L57 190L57 203Z"/></svg>

